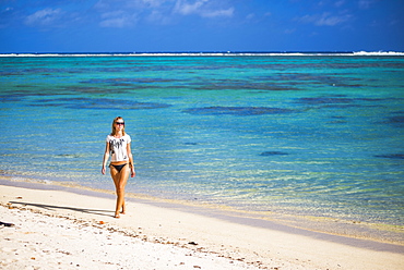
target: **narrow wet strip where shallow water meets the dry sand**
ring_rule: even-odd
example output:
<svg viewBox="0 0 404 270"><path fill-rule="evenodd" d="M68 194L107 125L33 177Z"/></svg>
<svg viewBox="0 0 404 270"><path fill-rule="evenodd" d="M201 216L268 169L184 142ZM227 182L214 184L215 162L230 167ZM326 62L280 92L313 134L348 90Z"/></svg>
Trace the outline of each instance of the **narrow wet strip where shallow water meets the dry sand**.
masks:
<svg viewBox="0 0 404 270"><path fill-rule="evenodd" d="M96 189L88 186L78 186L75 184L59 182L26 182L13 180L13 176L0 176L0 185L12 185L16 187L46 189L46 191L64 191L79 195L94 196L100 198L115 199L114 191ZM147 204L162 208L175 208L186 212L198 212L201 216L213 217L227 220L235 223L247 224L258 228L277 228L286 231L289 228L305 234L325 235L323 238L341 237L340 241L349 244L348 240L363 240L376 243L401 245L404 247L404 225L388 225L358 222L356 220L343 220L340 218L311 217L284 214L275 212L259 212L237 210L227 206L216 206L212 204L200 204L190 200L176 200L153 197L144 194L127 193L126 200L140 204Z"/></svg>

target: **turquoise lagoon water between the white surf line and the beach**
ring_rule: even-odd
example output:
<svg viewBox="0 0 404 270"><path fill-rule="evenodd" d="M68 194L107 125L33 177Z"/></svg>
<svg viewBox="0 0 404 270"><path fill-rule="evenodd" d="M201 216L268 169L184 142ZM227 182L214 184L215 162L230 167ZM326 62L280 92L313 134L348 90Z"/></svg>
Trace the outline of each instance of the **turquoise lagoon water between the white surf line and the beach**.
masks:
<svg viewBox="0 0 404 270"><path fill-rule="evenodd" d="M404 218L404 58L0 58L0 172L112 189L121 115L127 192L385 224Z"/></svg>

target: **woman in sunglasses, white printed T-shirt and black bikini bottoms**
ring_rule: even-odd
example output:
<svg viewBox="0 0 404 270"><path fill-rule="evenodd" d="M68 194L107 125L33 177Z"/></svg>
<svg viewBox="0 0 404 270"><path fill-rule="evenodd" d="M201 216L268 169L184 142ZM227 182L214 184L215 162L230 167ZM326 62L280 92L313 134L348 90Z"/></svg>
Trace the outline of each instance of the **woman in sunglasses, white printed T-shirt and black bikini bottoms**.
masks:
<svg viewBox="0 0 404 270"><path fill-rule="evenodd" d="M130 142L130 136L124 133L123 119L121 116L114 119L112 133L106 139L102 173L105 174L109 156L111 156L109 169L117 191L117 207L114 216L117 219L120 218L120 213L126 213L124 186L128 182L129 171L132 177L135 175Z"/></svg>

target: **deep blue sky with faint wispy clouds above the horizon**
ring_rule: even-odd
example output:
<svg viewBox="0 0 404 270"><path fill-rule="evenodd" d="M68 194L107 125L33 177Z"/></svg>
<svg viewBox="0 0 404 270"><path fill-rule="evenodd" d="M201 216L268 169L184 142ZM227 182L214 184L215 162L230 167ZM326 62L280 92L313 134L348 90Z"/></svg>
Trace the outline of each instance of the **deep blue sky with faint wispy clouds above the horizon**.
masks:
<svg viewBox="0 0 404 270"><path fill-rule="evenodd" d="M0 53L404 51L403 0L0 0Z"/></svg>

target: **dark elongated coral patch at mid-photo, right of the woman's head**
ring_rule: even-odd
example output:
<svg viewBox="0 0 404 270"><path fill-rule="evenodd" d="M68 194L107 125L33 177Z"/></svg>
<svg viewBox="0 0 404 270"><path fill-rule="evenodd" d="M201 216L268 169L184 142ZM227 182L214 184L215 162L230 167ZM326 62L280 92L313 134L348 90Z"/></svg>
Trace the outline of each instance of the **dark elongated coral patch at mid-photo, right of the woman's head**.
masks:
<svg viewBox="0 0 404 270"><path fill-rule="evenodd" d="M183 110L183 112L198 115L230 114L247 116L247 115L289 113L293 112L293 110L268 107L203 107L187 109Z"/></svg>

